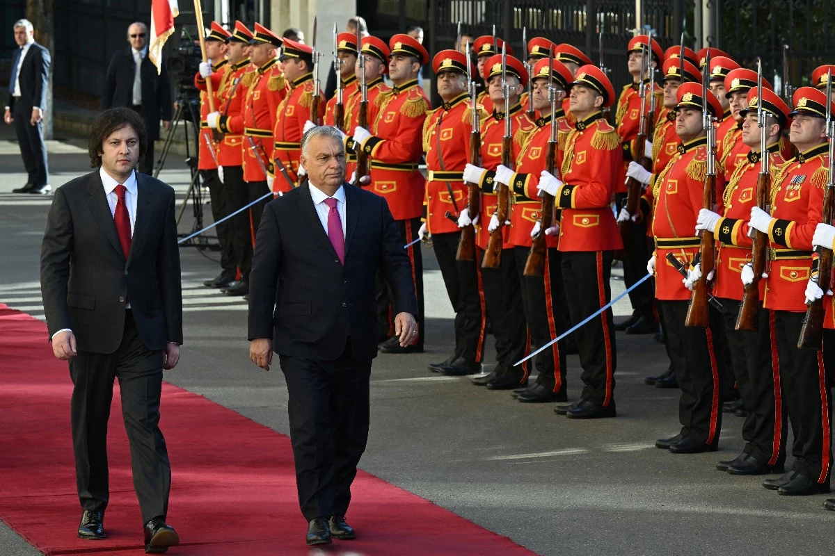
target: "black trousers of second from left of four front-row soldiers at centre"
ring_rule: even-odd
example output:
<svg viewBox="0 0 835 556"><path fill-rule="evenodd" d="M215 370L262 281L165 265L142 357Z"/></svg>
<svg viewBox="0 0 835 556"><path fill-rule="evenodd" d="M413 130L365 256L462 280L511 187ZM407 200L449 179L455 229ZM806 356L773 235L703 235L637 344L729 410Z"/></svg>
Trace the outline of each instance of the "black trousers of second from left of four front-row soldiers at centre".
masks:
<svg viewBox="0 0 835 556"><path fill-rule="evenodd" d="M482 263L484 250L478 249L478 264ZM493 338L496 341L494 372L498 377L512 374L519 378L519 384L528 380L528 363L514 367L524 358L528 350L528 332L525 327L522 291L519 287L519 273L516 272L514 249L502 249L502 260L498 268L482 268L481 280L484 288L484 303L490 323L493 324Z"/></svg>

